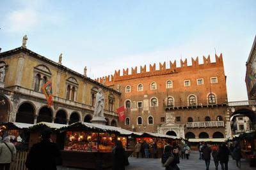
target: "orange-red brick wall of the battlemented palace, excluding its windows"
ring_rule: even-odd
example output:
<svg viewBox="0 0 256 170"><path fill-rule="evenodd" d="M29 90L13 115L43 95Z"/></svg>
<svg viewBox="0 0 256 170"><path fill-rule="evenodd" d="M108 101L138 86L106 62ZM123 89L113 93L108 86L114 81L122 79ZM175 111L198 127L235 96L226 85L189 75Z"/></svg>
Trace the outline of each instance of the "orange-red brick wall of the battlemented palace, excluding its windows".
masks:
<svg viewBox="0 0 256 170"><path fill-rule="evenodd" d="M120 70L115 71L114 75L99 78L97 81L102 82L106 79L106 85L114 89L120 89L122 92L120 105L125 105L125 101L131 100L131 108L125 109L125 117L130 118L130 125L121 125L125 129L135 131L150 131L156 132L157 127L166 124L166 113L172 112L175 117L180 117L180 122L175 122L179 125L185 125L188 117L192 117L194 122L204 122L204 117L207 115L211 121L216 121L216 117L220 115L225 120L225 111L227 106L221 104L227 103L227 88L226 77L223 67L222 55L215 56L216 62L211 62L210 57L204 57L204 64L199 64L198 58L192 59L192 66L188 66L187 60L180 60L180 67L176 66L175 62L170 62L170 68L166 68L166 63L159 64L159 69L156 69L156 64L150 65L149 71L146 66L140 67L138 73L137 67L124 69L120 75ZM218 83L211 83L211 78L218 78ZM197 79L203 78L204 84L197 85ZM166 89L166 81L172 80L173 87ZM184 87L184 81L190 80L191 85ZM152 82L156 82L157 89L150 89ZM138 91L138 85L143 84L143 91ZM125 92L127 85L131 86L131 92ZM207 96L212 93L216 97L216 104L211 106L207 100ZM196 96L196 108L188 107L188 96ZM166 109L166 99L172 96L174 99L174 108ZM150 106L150 99L156 97L158 106ZM138 108L137 102L143 102L143 108ZM208 106L209 105L209 106ZM201 108L200 106L204 106ZM218 106L218 107L217 107ZM148 125L147 118L154 117L154 125ZM143 125L137 124L137 118L143 118ZM161 122L161 117L164 117L164 122ZM198 120L199 117L199 120ZM224 127L216 127L205 129L188 129L185 128L185 133L188 131L194 132L196 135L203 131L209 131L210 136L215 131L220 131L225 136Z"/></svg>

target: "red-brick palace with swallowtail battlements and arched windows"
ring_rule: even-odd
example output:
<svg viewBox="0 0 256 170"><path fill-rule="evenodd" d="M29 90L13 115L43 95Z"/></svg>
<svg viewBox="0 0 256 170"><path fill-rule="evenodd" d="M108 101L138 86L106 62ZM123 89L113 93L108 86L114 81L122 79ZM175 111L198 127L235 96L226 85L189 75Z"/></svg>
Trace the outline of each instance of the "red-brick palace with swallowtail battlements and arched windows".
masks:
<svg viewBox="0 0 256 170"><path fill-rule="evenodd" d="M188 66L187 59L115 71L114 75L98 78L113 89L120 90L125 106L124 129L160 132L181 138L225 138L227 112L226 76L222 54L198 57Z"/></svg>

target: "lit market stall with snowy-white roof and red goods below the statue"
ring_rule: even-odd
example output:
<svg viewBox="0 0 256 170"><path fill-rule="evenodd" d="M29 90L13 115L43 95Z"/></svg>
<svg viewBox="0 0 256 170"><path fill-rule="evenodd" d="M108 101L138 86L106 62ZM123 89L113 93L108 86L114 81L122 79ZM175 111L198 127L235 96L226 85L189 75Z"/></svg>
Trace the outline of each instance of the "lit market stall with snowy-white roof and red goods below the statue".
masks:
<svg viewBox="0 0 256 170"><path fill-rule="evenodd" d="M60 129L65 133L65 145L61 150L63 166L97 169L112 166L112 148L115 141L122 141L127 156L127 136L131 131L107 125L76 122Z"/></svg>

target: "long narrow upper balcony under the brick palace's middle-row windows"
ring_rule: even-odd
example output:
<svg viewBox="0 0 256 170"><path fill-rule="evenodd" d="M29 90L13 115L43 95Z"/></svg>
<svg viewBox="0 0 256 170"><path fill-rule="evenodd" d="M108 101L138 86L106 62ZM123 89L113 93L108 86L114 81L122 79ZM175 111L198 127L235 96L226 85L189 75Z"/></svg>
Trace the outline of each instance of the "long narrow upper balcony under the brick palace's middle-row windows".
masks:
<svg viewBox="0 0 256 170"><path fill-rule="evenodd" d="M164 103L164 110L175 110L184 108L213 107L219 105L227 105L227 98L215 99L210 102L207 99L196 100L191 103L189 101L175 101L174 103Z"/></svg>

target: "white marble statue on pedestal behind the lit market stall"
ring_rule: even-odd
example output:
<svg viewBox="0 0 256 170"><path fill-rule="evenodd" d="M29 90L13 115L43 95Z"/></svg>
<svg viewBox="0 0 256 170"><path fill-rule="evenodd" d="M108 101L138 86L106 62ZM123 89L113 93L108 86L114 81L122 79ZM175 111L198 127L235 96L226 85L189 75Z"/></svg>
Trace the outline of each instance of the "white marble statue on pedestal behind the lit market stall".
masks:
<svg viewBox="0 0 256 170"><path fill-rule="evenodd" d="M102 89L99 89L96 94L93 117L104 117L104 95Z"/></svg>

